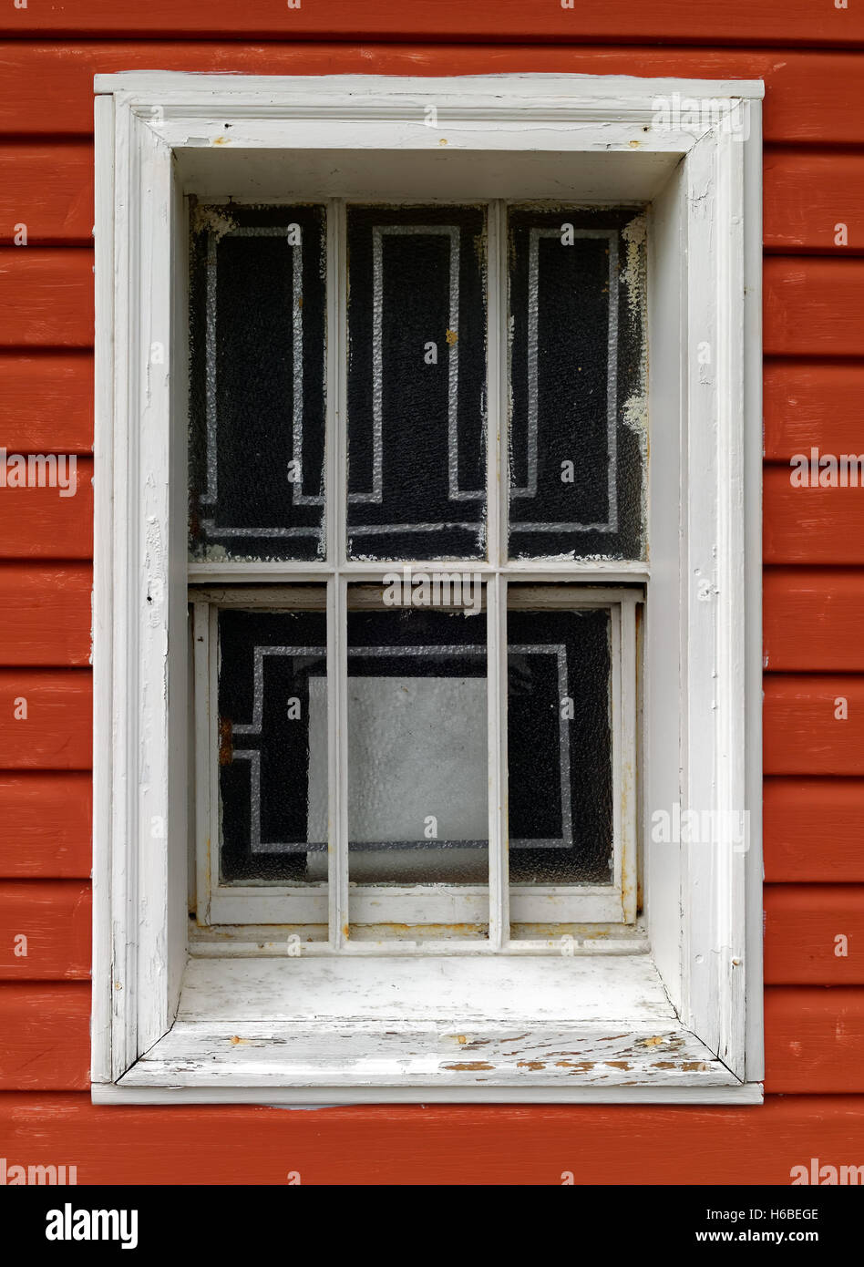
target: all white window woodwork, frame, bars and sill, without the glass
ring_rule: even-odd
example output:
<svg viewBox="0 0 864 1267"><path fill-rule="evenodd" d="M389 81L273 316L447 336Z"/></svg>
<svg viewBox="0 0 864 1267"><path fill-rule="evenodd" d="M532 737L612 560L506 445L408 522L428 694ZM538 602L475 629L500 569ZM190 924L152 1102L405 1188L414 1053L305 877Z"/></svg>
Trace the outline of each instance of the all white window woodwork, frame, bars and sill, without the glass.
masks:
<svg viewBox="0 0 864 1267"><path fill-rule="evenodd" d="M755 834L751 830L746 851L732 849L728 840L702 851L680 841L664 850L651 846L646 827L656 808L675 803L740 813L758 787L758 717L751 685L759 665L754 655L754 612L756 630L759 622L754 564L745 554L745 536L753 533L754 517L758 523L750 430L754 408L758 417L753 355L759 337L759 276L753 232L754 223L758 226L759 185L753 155L758 142L754 98L760 91L747 86L750 134L742 142L723 129L722 120L697 137L655 125L656 98L669 85L578 77L547 85L542 77L513 77L504 81L508 96L502 104L495 91L500 82L238 79L228 84L171 75L100 81L105 95L98 101L101 483L96 522L96 753L100 736L106 736L106 716L120 739L110 764L98 761L95 772L96 976L101 983L94 1026L96 1098L147 1100L165 1095L291 1102L321 1098L324 1087L337 1098L348 1091L351 1098L423 1100L437 1093L445 1098L758 1097L758 1090L751 1090L760 1077ZM736 91L716 84L684 87L693 90L690 95L726 94L730 101L744 95L741 85ZM423 123L429 100L447 118L446 127L429 129ZM345 138L351 133L346 111L357 115L357 144L366 147L360 156L346 148ZM543 134L538 134L538 118L549 120L547 133L540 129ZM408 139L405 127L410 128ZM224 144L227 131L231 141ZM210 137L205 147L199 133ZM440 157L442 139L448 146L446 167ZM399 151L395 165L394 150ZM220 892L226 886L219 886L218 877L214 883L212 867L208 874L201 839L193 900L199 924L215 931L200 940L196 935L189 938L184 846L194 841L196 832L201 837L201 822L209 826L213 821L212 758L219 748L218 717L214 730L212 707L213 611L237 606L234 587L239 578L237 568L228 563L199 560L189 569L186 565L186 198L194 194L200 200L219 200L231 189L238 201L265 200L261 181L267 170L272 171L274 151L280 152L293 179L303 174L304 189L328 199L423 200L429 198L431 184L442 198L448 195L460 203L493 193L498 201L490 217L490 241L493 219L502 234L503 203L532 198L560 203L562 162L570 205L650 204L650 559L595 557L576 564L535 556L502 561L502 441L489 446L486 492L490 509L497 511L489 516L488 560L460 565L471 571L476 568L483 576L486 636L494 650L494 672L486 682L490 749L497 756L489 767L490 841L503 840L504 834L507 765L497 736L505 732L508 587L566 584L568 590L581 595L579 602L609 609L621 644L613 658L613 675L617 665L621 716L628 718L617 729L614 768L627 769L632 779L628 788L619 783L616 791L616 803L627 802L630 816L630 826L621 820L616 836L621 915L609 911L604 919L606 911L587 906L564 953L560 939L554 941L549 929L542 930L546 935L509 939L511 920L547 921L519 919L516 903L521 895L511 895L503 850L489 850L488 935L483 945L505 959L516 953L524 967L514 978L516 1007L502 1003L500 1015L495 1015L493 1003L500 992L498 978L483 978L486 1002L480 1011L485 1015L478 1024L489 1030L493 1041L495 1025L500 1028L504 1019L518 1022L531 1017L542 1050L549 1043L555 1049L549 1029L552 1021L559 1026L559 1043L561 1026L573 1035L575 1025L579 1041L599 1044L599 1050L609 1040L606 1030L612 1026L619 1033L625 1025L625 1063L632 1076L622 1076L614 1062L589 1060L581 1062L581 1074L574 1071L565 1081L564 1074L546 1069L542 1060L516 1062L517 1072L504 1057L500 1067L492 1062L492 1074L480 1074L470 1060L447 1060L446 1043L438 1059L438 1048L429 1040L432 1066L427 1062L426 1072L409 1077L405 1085L397 1073L398 1057L384 1054L383 1026L380 1033L372 1026L364 1049L385 1069L376 1078L346 1072L356 1053L346 1055L345 1068L331 1069L321 1078L298 1073L290 1059L285 1064L276 1059L262 1074L253 1062L241 1059L246 1054L243 1044L231 1041L236 1033L227 1035L227 1029L236 1030L241 1024L248 1028L252 1017L257 1024L271 1015L271 1029L288 1026L279 1041L296 1038L296 1050L305 1050L305 1040L298 1038L305 1034L304 998L309 1016L323 1012L338 1029L340 1017L365 1015L361 998L366 991L374 996L390 988L404 1002L402 1016L408 1028L422 1029L424 1024L417 995L428 991L437 969L428 979L419 976L412 986L405 987L404 981L399 986L398 955L390 967L381 967L380 954L370 949L369 939L364 946L362 936L351 935L356 903L352 912L346 865L347 735L338 725L340 708L345 715L345 701L340 703L338 696L347 680L343 631L351 587L380 584L381 561L370 566L336 554L326 564L298 560L286 566L284 560L260 560L242 568L241 583L250 587L242 602L252 609L272 608L279 588L274 583L296 587L323 582L327 587L329 734L338 739L331 742L329 808L331 815L338 815L342 829L331 836L331 854L336 849L342 856L336 862L331 856L327 941L317 938L309 946L304 944L299 957L291 946L286 949L281 936L295 924L305 924L305 911L290 911L285 893ZM503 175L502 151L508 167ZM341 188L327 188L327 171L338 172ZM448 182L455 188L448 189ZM266 190L269 198L271 189L272 182ZM332 229L328 248L337 264L337 284L328 286L327 317L328 328L336 331L345 328L347 317L338 285L345 276L340 258L345 245ZM505 310L500 302L505 288L502 271L493 277L490 270L490 323L500 321ZM745 277L746 300L740 284ZM495 288L497 296L492 294ZM124 346L128 357L120 355ZM507 369L500 348L495 332L488 353L489 418L503 417ZM160 350L167 355L161 356ZM338 340L328 341L329 436L337 440L328 449L329 490L345 487L342 473L347 470L345 428L333 424L345 408L343 366ZM745 428L745 417L750 430ZM692 478L694 471L697 480ZM118 513L120 506L123 514ZM340 497L331 497L327 506L327 540L338 544L340 551L347 536L341 518L346 506L347 498ZM452 563L446 556L438 561ZM195 611L190 658L181 645L189 582ZM636 612L645 597L646 618L638 628L642 699L637 698L636 683ZM338 674L332 672L336 665L341 668ZM185 707L190 682L195 685L191 718ZM210 734L209 753L203 760L198 745L189 780L189 737L200 734L201 711L204 730L209 727ZM632 759L625 760L628 753ZM636 769L642 774L638 793ZM130 779L133 772L139 778ZM195 787L194 807L186 802L187 782ZM637 832L645 840L638 886L647 900L646 919L635 926ZM208 897L209 911L201 905ZM514 907L508 911L511 897ZM580 900L590 897L583 892ZM243 906L256 900L270 906L261 906L257 914ZM239 905L232 907L232 901ZM147 919L136 924L132 912L142 902ZM565 922L574 925L573 910L566 915ZM313 922L321 926L322 921ZM239 927L242 924L251 927ZM275 939L274 933L279 934ZM375 944L380 940L372 934ZM442 944L424 936L410 940L433 964L436 955L452 958L452 941ZM409 945L397 943L397 949L400 954L413 953ZM557 953L550 955L554 946ZM393 945L388 949L393 950ZM633 950L638 953L628 953ZM189 952L191 958L186 959ZM365 976L356 978L347 968L328 968L329 976L317 977L319 969L310 960L333 952L361 960ZM546 952L540 954L546 973L541 977L535 965L538 952ZM568 971L574 960L579 962L579 973ZM478 1014L476 995L469 978L459 977L460 971L452 969L454 1024L460 1015ZM476 969L469 971L476 976ZM492 973L499 971L489 968ZM357 988L359 979L362 990ZM290 1017L280 1002L285 988L294 998ZM550 1000L545 1011L543 991L549 991ZM226 1002L232 995L233 1002ZM542 998L543 1006L535 1007L532 997ZM219 1002L214 1002L217 998ZM669 1000L666 1014L661 1007L669 1006ZM656 1038L663 1039L659 1052L652 1047ZM200 1052L196 1055L194 1048L200 1040L210 1043L213 1050L208 1048L210 1054L199 1060ZM327 1047L321 1035L315 1041L322 1041L326 1052L338 1048L338 1043ZM142 1059L144 1052L147 1058ZM664 1059L649 1060L652 1053ZM338 1063L338 1057L334 1059ZM532 1064L542 1064L542 1072L526 1068ZM603 1068L599 1074L588 1074L588 1066ZM433 1073L428 1072L431 1067ZM576 1083L570 1081L574 1076ZM622 1082L636 1086L625 1088Z"/></svg>

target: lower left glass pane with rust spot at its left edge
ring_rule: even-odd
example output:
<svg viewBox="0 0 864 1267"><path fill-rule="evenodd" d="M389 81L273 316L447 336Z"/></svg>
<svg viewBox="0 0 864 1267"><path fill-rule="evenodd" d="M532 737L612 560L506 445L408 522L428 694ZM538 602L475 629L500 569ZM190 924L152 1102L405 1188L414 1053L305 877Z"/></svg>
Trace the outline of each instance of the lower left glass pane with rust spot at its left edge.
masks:
<svg viewBox="0 0 864 1267"><path fill-rule="evenodd" d="M323 587L319 604L219 612L223 882L327 879Z"/></svg>

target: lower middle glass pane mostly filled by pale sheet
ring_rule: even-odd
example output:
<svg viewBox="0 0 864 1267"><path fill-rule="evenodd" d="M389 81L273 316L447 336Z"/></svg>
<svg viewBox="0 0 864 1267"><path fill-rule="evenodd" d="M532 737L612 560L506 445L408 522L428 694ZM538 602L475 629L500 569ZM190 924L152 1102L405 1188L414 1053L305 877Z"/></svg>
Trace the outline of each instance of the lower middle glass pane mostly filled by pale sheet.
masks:
<svg viewBox="0 0 864 1267"><path fill-rule="evenodd" d="M355 882L488 882L486 621L476 607L348 612Z"/></svg>

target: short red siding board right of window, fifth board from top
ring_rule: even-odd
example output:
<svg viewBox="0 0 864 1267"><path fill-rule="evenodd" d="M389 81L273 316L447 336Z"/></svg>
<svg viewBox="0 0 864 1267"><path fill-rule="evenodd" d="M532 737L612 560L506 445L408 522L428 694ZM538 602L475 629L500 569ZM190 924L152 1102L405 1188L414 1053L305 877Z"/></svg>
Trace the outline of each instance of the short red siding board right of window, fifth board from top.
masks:
<svg viewBox="0 0 864 1267"><path fill-rule="evenodd" d="M766 361L763 371L765 459L864 452L864 366Z"/></svg>

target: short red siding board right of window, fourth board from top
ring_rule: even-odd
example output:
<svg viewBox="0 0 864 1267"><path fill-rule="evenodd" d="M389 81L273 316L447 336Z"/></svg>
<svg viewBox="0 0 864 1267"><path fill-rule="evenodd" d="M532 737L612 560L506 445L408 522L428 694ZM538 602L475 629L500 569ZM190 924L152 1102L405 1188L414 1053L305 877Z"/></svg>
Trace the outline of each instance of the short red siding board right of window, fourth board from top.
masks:
<svg viewBox="0 0 864 1267"><path fill-rule="evenodd" d="M864 355L864 260L768 256L763 288L765 355Z"/></svg>

